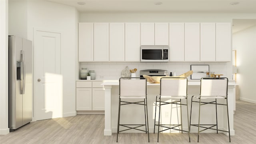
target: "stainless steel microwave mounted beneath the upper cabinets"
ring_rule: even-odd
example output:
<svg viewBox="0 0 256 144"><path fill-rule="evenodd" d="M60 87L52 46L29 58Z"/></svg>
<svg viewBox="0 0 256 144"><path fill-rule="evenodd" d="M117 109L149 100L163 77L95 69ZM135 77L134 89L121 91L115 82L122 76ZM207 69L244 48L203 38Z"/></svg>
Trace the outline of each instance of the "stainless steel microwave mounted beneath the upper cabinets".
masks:
<svg viewBox="0 0 256 144"><path fill-rule="evenodd" d="M169 62L169 46L140 46L140 62Z"/></svg>

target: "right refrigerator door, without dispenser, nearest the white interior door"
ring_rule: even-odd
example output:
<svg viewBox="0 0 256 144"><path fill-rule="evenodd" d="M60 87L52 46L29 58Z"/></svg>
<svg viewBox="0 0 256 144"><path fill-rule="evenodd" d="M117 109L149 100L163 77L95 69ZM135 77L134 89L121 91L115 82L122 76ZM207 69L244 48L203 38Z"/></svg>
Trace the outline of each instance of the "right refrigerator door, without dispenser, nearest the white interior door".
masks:
<svg viewBox="0 0 256 144"><path fill-rule="evenodd" d="M24 52L24 94L22 101L22 125L27 124L32 121L32 41L22 39L22 50Z"/></svg>

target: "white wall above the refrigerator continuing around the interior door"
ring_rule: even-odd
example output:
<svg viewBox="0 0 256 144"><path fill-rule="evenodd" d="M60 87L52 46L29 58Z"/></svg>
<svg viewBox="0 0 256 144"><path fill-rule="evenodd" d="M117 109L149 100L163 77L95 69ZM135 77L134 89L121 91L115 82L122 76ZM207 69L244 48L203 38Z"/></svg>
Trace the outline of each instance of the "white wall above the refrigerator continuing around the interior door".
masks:
<svg viewBox="0 0 256 144"><path fill-rule="evenodd" d="M11 13L11 17L9 17L10 34L33 41L34 28L61 33L63 116L76 115L75 80L78 78L79 69L77 60L79 14L77 10L72 6L44 0L12 1L9 9ZM26 11L26 14L22 13L23 10ZM17 18L20 16L24 19ZM24 30L20 30L21 28Z"/></svg>

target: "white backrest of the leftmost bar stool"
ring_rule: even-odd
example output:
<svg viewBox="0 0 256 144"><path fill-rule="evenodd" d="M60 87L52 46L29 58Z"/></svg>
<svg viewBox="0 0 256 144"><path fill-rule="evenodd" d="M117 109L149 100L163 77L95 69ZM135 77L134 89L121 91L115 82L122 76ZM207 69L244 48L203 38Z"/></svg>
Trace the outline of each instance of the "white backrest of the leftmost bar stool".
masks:
<svg viewBox="0 0 256 144"><path fill-rule="evenodd" d="M146 78L120 78L119 96L146 96L147 80Z"/></svg>

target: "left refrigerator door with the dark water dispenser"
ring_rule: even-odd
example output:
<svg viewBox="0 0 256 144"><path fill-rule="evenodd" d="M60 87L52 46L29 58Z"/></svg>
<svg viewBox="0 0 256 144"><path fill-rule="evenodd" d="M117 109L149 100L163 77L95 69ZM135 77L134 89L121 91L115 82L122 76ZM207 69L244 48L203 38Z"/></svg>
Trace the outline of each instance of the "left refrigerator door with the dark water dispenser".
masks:
<svg viewBox="0 0 256 144"><path fill-rule="evenodd" d="M22 126L22 38L9 36L9 128Z"/></svg>

